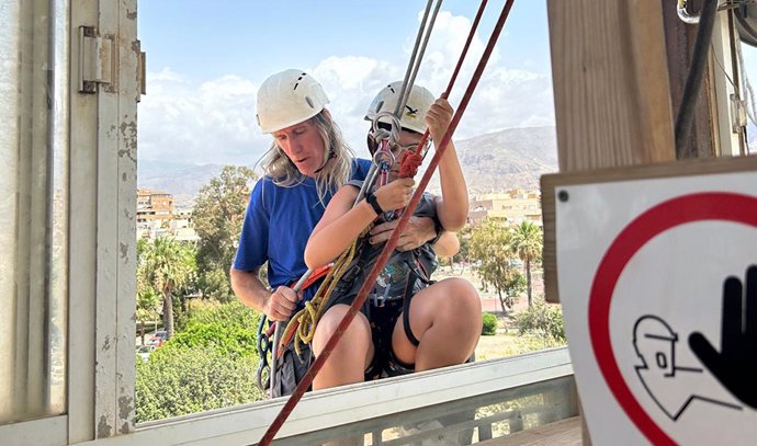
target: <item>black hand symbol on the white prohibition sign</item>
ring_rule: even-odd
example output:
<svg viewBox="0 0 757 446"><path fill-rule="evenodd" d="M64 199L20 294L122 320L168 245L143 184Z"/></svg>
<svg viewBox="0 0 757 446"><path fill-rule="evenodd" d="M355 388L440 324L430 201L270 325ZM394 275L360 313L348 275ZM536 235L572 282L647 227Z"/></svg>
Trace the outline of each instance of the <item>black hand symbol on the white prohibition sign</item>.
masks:
<svg viewBox="0 0 757 446"><path fill-rule="evenodd" d="M757 265L746 271L746 293L736 277L723 284L721 352L700 332L689 335L689 346L734 397L757 409Z"/></svg>

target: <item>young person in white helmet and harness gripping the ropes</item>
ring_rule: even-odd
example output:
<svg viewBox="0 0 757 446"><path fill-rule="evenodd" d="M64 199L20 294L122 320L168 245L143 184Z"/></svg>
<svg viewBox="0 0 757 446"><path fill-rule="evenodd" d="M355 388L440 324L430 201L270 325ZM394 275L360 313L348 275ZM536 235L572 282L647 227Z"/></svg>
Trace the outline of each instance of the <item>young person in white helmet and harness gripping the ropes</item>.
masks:
<svg viewBox="0 0 757 446"><path fill-rule="evenodd" d="M394 111L400 90L400 82L382 90L366 118ZM399 159L402 151L415 148L427 126L433 140L441 140L451 118L448 101L434 101L428 90L414 87L399 118L398 139L391 147L393 156ZM373 150L378 147L374 145ZM370 225L383 224L389 211L407 205L415 182L397 179L398 168L395 163L388 171L388 183L372 188L357 205L360 181L339 188L305 248L305 263L309 267L334 261ZM426 194L414 213L433 217L444 230L455 231L466 221L467 188L452 142L439 162L439 174L442 196ZM316 356L347 313L382 249L383 242L371 244L370 235L359 241L355 261L325 304L328 309L317 324L312 343ZM462 364L472 356L482 330L478 295L462 278L431 284L428 275L433 267L436 255L428 243L393 254L361 312L316 376L314 389L359 382L384 373Z"/></svg>

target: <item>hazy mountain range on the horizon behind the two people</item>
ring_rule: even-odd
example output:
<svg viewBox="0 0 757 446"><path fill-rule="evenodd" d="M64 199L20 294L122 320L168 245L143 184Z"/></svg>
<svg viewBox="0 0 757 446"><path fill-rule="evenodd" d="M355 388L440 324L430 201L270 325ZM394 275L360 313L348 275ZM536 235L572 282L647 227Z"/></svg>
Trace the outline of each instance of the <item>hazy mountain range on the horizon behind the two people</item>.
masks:
<svg viewBox="0 0 757 446"><path fill-rule="evenodd" d="M455 140L455 147L472 195L539 188L542 174L557 171L554 126L508 128ZM137 184L173 194L177 205L191 205L200 188L222 168L222 164L139 160ZM416 180L420 180L421 173L422 168ZM428 190L439 192L439 175L433 175Z"/></svg>

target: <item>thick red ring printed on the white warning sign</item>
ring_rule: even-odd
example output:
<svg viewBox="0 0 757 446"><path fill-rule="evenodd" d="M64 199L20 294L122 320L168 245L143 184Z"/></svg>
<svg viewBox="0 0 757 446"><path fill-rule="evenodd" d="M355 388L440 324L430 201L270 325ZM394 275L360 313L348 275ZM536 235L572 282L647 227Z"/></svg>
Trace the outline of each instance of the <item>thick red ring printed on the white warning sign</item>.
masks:
<svg viewBox="0 0 757 446"><path fill-rule="evenodd" d="M625 414L654 445L677 445L634 398L621 375L610 342L610 304L618 279L633 255L662 232L694 221L720 220L757 227L757 198L712 192L663 202L632 220L608 248L589 294L589 336L599 369Z"/></svg>

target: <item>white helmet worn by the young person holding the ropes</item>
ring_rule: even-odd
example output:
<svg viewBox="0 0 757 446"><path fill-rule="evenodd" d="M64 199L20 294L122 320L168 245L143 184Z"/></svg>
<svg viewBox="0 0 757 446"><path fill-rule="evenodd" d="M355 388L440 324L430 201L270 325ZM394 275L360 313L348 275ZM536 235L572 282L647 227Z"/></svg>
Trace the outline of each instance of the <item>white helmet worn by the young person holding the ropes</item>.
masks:
<svg viewBox="0 0 757 446"><path fill-rule="evenodd" d="M403 89L403 81L392 82L384 87L371 102L365 113L366 121L373 121L380 112L394 113L399 102L399 93ZM426 113L436 101L433 94L428 89L413 85L410 96L407 99L405 110L399 116L399 123L404 128L422 134L426 131ZM391 121L380 118L381 122L391 124Z"/></svg>

